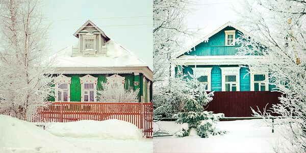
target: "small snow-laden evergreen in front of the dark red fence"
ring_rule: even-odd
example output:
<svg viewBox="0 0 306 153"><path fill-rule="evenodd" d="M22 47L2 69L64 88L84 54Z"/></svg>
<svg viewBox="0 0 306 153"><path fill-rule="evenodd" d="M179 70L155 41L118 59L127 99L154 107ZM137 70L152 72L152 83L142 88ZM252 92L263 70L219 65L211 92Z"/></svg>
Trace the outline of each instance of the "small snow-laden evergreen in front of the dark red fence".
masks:
<svg viewBox="0 0 306 153"><path fill-rule="evenodd" d="M216 128L216 124L224 114L204 111L204 106L213 100L214 92L205 92L205 85L198 83L195 79L188 83L193 86L191 94L186 97L184 112L178 113L177 123L181 125L181 131L175 133L178 137L189 136L192 131L202 138L207 138L210 135L224 134ZM204 92L203 92L204 91Z"/></svg>

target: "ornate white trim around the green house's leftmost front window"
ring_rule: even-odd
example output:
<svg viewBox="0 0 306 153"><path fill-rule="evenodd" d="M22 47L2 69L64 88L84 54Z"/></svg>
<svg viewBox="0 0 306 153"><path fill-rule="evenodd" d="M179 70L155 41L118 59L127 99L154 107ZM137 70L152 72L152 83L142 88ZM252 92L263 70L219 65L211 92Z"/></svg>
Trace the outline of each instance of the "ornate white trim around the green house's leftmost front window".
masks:
<svg viewBox="0 0 306 153"><path fill-rule="evenodd" d="M71 83L71 78L70 77L66 77L63 74L60 74L58 77L56 77L54 79L54 83L55 83L55 101L59 101L59 97L58 97L58 92L59 92L59 88L58 85L59 84L66 84L67 83L67 94L68 94L68 98L67 101L70 101L70 83ZM63 101L63 100L61 100Z"/></svg>

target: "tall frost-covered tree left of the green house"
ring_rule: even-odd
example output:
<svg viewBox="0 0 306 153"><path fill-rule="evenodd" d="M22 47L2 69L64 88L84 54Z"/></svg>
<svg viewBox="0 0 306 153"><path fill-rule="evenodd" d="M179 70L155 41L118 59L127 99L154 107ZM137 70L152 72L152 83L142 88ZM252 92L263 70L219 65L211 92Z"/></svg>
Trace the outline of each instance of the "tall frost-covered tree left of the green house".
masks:
<svg viewBox="0 0 306 153"><path fill-rule="evenodd" d="M53 60L38 1L0 1L0 114L29 120L52 95Z"/></svg>

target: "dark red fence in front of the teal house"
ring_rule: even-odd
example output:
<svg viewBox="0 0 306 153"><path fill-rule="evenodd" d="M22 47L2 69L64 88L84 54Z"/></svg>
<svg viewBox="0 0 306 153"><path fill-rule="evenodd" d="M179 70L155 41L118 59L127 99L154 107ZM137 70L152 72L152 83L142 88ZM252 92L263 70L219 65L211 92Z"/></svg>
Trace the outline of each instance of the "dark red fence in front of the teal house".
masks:
<svg viewBox="0 0 306 153"><path fill-rule="evenodd" d="M205 108L214 113L224 113L225 117L251 117L251 108L261 111L272 104L279 103L279 92L270 91L218 91L214 93L213 101Z"/></svg>

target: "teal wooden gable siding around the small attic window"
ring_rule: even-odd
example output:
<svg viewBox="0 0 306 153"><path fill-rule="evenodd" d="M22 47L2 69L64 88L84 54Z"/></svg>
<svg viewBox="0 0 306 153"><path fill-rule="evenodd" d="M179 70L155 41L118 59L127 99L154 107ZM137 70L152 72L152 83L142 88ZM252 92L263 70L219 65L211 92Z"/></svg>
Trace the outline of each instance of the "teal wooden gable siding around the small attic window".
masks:
<svg viewBox="0 0 306 153"><path fill-rule="evenodd" d="M192 52L185 53L185 55L197 56L220 56L220 55L235 55L240 47L237 43L234 46L225 46L225 32L226 30L236 30L233 27L226 27L215 35L209 38L207 42L202 42L191 48ZM236 30L235 39L241 35L241 32Z"/></svg>

